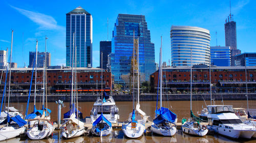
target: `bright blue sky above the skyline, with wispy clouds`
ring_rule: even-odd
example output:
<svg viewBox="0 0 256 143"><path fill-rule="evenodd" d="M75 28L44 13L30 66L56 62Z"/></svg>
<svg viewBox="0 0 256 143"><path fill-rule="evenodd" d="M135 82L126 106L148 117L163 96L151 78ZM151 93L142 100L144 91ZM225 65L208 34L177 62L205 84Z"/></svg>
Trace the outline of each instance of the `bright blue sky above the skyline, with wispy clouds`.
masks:
<svg viewBox="0 0 256 143"><path fill-rule="evenodd" d="M29 63L29 51L45 50L45 36L52 65L66 65L66 13L78 6L93 17L93 67L99 66L99 41L109 40L119 13L145 15L151 41L155 43L156 62L163 36L163 61L170 55L170 26L190 25L210 31L211 46L225 46L224 23L229 15L229 1L5 1L0 2L0 49L11 46L14 30L13 62L18 67ZM237 43L242 52L256 52L256 1L232 0L231 13L237 22Z"/></svg>

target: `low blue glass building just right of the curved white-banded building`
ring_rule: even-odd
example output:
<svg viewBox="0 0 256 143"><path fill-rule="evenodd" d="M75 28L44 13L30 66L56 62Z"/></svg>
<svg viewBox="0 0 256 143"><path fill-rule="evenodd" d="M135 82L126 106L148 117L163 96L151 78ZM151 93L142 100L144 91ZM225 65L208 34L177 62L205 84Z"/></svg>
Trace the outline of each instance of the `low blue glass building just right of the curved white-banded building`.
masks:
<svg viewBox="0 0 256 143"><path fill-rule="evenodd" d="M215 66L231 66L230 47L211 46L210 47L211 65Z"/></svg>

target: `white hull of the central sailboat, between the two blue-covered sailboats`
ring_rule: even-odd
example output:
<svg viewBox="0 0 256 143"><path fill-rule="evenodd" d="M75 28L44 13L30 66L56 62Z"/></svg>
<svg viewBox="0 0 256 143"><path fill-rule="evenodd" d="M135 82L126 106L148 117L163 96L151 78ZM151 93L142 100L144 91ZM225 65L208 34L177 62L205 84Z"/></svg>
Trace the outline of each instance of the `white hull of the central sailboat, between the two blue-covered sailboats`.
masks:
<svg viewBox="0 0 256 143"><path fill-rule="evenodd" d="M122 126L122 130L125 136L129 138L138 138L143 135L145 126L137 123L136 128L132 129L132 123L127 123Z"/></svg>

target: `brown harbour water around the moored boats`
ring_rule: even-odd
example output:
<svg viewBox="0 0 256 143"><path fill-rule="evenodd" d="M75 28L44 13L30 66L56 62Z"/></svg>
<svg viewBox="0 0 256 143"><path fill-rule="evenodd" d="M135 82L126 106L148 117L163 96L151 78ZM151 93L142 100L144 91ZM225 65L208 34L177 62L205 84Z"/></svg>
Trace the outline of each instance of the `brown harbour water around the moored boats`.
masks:
<svg viewBox="0 0 256 143"><path fill-rule="evenodd" d="M64 103L66 107L61 109L61 119L63 118L63 113L69 110L69 103ZM159 103L158 103L159 104ZM197 111L202 109L202 105L205 107L204 101L193 101L193 112L197 115ZM209 104L209 101L206 101ZM216 101L215 104L222 104L221 101ZM247 108L246 101L224 101L224 104L233 105L233 107L243 107ZM13 106L26 111L26 103L13 103ZM38 105L38 104L37 104ZM132 102L116 102L119 108L119 122L125 121L128 118L129 113L133 109ZM152 118L154 117L154 110L156 109L156 102L144 101L140 102L141 109ZM90 116L90 111L92 109L93 102L79 102L79 110L83 113L84 118ZM169 101L163 102L164 107L169 107L178 116L178 122L181 122L182 118L189 117L190 102L189 101ZM37 106L37 109L40 107ZM48 103L48 108L52 110L51 119L57 121L57 104L52 102ZM249 101L249 108L253 115L256 114L256 102ZM33 103L30 103L29 112L33 109ZM209 134L204 137L190 136L183 134L180 130L177 131L173 137L163 137L155 134L145 134L138 139L127 139L124 137L121 129L114 130L110 136L106 137L95 137L95 136L81 136L73 139L63 139L61 138L59 130L55 130L51 138L43 140L30 140L28 138L13 138L9 139L7 142L256 142L256 139L244 140L244 139L230 139L217 134Z"/></svg>

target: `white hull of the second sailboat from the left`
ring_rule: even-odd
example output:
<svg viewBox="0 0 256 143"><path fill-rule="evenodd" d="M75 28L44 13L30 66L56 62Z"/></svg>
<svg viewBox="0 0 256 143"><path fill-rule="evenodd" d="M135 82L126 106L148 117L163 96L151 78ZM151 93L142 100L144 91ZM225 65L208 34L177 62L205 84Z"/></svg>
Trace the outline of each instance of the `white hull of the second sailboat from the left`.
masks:
<svg viewBox="0 0 256 143"><path fill-rule="evenodd" d="M53 131L54 131L54 126L48 123L48 127L45 127L42 130L38 130L37 126L34 126L32 128L27 129L27 135L30 139L38 140L38 139L43 139L49 137Z"/></svg>

